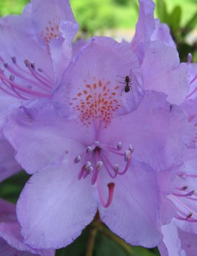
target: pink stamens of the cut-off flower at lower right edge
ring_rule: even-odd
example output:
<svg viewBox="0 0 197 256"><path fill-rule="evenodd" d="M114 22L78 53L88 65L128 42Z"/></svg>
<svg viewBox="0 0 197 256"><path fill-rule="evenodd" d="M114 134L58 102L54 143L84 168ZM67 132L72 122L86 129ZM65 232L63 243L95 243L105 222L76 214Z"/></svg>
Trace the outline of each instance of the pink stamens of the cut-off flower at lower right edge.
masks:
<svg viewBox="0 0 197 256"><path fill-rule="evenodd" d="M197 175L189 173L178 173L178 177L180 179L196 179ZM193 209L191 209L189 206L190 204L188 204L191 200L197 201L197 193L194 189L190 189L187 185L184 185L180 188L175 188L175 191L171 193L169 198L175 202L177 207L177 214L175 215L175 218L193 223L197 222L197 212L193 211Z"/></svg>

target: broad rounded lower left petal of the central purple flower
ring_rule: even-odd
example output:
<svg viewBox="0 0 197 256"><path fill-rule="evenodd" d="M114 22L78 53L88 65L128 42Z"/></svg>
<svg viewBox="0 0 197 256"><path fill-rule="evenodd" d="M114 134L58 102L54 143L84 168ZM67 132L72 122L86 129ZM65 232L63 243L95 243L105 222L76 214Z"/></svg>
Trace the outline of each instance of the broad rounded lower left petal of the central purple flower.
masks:
<svg viewBox="0 0 197 256"><path fill-rule="evenodd" d="M97 203L90 180L78 180L78 166L65 159L36 173L22 191L17 216L32 247L67 246L93 220Z"/></svg>

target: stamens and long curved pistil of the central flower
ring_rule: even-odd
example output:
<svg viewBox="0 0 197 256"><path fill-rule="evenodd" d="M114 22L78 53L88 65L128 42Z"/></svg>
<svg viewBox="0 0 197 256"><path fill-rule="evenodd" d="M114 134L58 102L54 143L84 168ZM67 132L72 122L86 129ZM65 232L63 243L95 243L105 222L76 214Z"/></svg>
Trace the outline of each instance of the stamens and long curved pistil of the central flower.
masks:
<svg viewBox="0 0 197 256"><path fill-rule="evenodd" d="M112 202L114 183L111 182L107 185L109 189L109 196L105 203L102 196L99 173L104 169L111 179L116 178L117 175L125 174L129 169L131 154L133 151L134 149L132 145L129 145L129 148L122 152L121 142L117 144L117 147L111 147L110 145L105 145L99 141L95 141L93 145L88 146L84 152L75 157L75 164L82 162L78 179L86 179L86 177L91 175L91 184L94 185L97 182L100 202L104 207L108 207ZM111 163L111 159L114 158L117 162Z"/></svg>

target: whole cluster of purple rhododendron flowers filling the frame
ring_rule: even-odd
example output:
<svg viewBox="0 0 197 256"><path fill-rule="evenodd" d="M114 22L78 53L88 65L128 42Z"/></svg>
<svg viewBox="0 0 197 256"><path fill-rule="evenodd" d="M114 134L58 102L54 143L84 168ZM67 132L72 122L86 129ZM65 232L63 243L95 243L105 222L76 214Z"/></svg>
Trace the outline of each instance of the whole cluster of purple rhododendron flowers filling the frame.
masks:
<svg viewBox="0 0 197 256"><path fill-rule="evenodd" d="M139 0L121 44L72 44L65 0L31 0L0 20L0 180L32 174L17 216L0 202L0 254L54 255L98 211L127 243L196 252L197 66L191 54L180 63L154 7Z"/></svg>

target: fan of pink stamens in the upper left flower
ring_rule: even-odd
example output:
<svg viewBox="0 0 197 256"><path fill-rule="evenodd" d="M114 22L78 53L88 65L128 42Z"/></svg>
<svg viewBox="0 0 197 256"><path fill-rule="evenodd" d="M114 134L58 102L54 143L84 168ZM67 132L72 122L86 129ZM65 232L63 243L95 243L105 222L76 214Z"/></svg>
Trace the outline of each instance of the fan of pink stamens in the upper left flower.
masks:
<svg viewBox="0 0 197 256"><path fill-rule="evenodd" d="M39 97L51 98L52 80L41 69L36 68L35 63L24 60L24 67L12 57L13 65L9 65L0 56L0 89L3 92L18 99L35 99ZM22 85L21 85L22 82Z"/></svg>

